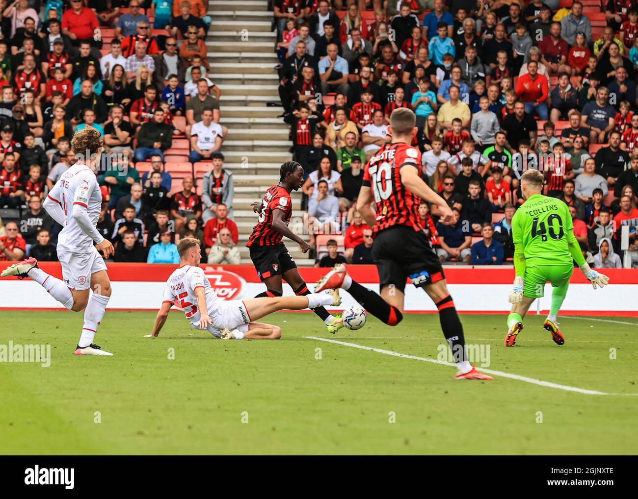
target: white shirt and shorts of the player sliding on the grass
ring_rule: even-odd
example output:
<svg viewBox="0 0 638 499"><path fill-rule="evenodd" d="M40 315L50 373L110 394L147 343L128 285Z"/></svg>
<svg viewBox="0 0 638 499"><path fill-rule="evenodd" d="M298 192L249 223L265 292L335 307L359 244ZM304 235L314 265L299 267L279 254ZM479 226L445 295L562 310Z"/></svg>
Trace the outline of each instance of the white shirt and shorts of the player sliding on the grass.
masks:
<svg viewBox="0 0 638 499"><path fill-rule="evenodd" d="M184 265L175 269L166 282L162 303L174 303L177 300L191 326L199 329L201 317L195 296L195 289L198 287L204 288L206 308L212 321L208 327L211 335L219 338L223 328L228 328L231 331L237 329L242 333L248 331L250 317L244 302L219 298L213 291L211 282L204 275L204 270L199 267Z"/></svg>

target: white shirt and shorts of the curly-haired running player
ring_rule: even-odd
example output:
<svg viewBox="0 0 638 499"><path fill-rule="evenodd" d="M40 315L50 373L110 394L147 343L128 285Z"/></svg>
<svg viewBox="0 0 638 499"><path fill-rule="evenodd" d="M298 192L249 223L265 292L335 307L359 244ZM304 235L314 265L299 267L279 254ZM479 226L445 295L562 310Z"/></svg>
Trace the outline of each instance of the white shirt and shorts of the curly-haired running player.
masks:
<svg viewBox="0 0 638 499"><path fill-rule="evenodd" d="M57 238L57 257L62 265L64 283L78 291L89 289L91 275L107 270L104 259L93 245L103 238L97 230L94 239L80 228L73 217L73 206L84 207L95 228L102 206L102 193L95 173L85 164L71 166L48 193L48 198L59 203L64 211L64 228Z"/></svg>

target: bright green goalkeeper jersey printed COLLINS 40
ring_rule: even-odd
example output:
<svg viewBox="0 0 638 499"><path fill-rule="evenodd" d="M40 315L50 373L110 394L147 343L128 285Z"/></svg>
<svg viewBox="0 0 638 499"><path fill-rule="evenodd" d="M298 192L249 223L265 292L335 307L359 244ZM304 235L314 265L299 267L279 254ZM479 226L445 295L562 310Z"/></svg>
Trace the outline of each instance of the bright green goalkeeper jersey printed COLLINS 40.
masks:
<svg viewBox="0 0 638 499"><path fill-rule="evenodd" d="M512 240L523 245L525 265L573 265L568 234L574 230L569 208L563 201L533 194L512 219Z"/></svg>

